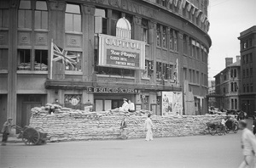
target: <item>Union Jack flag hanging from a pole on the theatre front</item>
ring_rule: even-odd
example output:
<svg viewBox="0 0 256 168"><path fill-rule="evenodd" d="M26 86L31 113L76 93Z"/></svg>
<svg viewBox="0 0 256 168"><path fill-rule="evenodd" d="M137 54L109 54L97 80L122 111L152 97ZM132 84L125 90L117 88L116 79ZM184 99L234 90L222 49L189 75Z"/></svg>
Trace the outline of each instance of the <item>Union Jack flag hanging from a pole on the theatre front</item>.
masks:
<svg viewBox="0 0 256 168"><path fill-rule="evenodd" d="M66 51L58 47L55 43L52 42L52 61L60 62L62 64L69 64L73 68L77 64L78 56L72 52Z"/></svg>

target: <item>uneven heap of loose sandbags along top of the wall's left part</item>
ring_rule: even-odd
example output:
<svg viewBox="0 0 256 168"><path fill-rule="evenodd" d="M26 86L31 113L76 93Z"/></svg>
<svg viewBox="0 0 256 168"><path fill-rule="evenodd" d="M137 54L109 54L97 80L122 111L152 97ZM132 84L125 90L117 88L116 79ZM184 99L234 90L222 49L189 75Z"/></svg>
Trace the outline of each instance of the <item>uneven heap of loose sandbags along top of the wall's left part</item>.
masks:
<svg viewBox="0 0 256 168"><path fill-rule="evenodd" d="M74 117L86 117L86 118L99 118L102 116L144 116L144 115L154 115L152 111L141 109L135 112L125 112L120 110L108 110L108 111L97 111L97 112L87 112L80 109L71 109L62 107L59 104L46 104L42 107L34 107L31 110L32 116L37 115L47 115L47 116L55 116L55 115L70 115Z"/></svg>

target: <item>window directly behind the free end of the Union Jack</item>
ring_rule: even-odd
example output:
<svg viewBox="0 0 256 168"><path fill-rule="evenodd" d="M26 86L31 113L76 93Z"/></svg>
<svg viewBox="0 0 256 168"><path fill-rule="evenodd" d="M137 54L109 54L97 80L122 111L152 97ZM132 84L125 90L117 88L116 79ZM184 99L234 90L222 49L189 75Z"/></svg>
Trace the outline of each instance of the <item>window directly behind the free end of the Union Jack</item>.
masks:
<svg viewBox="0 0 256 168"><path fill-rule="evenodd" d="M67 55L71 56L70 59L74 60L75 64L66 64L66 70L82 71L82 53L73 51L67 51L67 53Z"/></svg>

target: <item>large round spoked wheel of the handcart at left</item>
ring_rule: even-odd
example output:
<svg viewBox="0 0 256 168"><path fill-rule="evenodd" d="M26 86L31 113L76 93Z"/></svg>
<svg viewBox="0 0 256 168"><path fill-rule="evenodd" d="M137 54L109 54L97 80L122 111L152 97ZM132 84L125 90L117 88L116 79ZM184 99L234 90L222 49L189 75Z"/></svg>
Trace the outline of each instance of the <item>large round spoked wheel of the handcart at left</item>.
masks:
<svg viewBox="0 0 256 168"><path fill-rule="evenodd" d="M26 128L22 134L22 141L26 145L38 144L40 140L39 132L34 128Z"/></svg>

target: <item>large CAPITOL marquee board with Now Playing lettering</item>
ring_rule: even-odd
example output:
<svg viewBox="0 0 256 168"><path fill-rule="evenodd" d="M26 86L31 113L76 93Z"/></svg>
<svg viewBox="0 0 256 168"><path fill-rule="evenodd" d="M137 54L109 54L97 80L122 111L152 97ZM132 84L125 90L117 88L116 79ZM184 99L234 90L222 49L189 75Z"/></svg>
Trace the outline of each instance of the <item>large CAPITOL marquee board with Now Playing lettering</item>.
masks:
<svg viewBox="0 0 256 168"><path fill-rule="evenodd" d="M99 66L145 69L145 42L99 34Z"/></svg>

